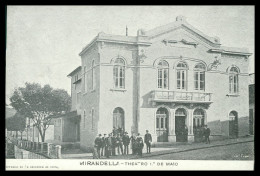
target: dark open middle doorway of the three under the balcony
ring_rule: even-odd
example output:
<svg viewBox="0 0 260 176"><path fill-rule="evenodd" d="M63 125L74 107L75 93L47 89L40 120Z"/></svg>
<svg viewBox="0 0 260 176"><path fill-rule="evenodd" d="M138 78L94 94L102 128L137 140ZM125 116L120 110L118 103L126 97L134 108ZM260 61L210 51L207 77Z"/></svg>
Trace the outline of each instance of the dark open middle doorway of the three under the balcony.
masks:
<svg viewBox="0 0 260 176"><path fill-rule="evenodd" d="M176 142L188 141L188 128L186 126L187 112L184 108L179 108L175 112L175 134Z"/></svg>

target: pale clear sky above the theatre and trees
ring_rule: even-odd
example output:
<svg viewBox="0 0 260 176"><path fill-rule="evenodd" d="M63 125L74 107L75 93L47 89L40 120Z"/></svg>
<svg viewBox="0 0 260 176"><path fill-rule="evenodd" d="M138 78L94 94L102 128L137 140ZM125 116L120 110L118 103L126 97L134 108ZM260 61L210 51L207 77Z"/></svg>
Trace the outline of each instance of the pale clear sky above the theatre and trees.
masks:
<svg viewBox="0 0 260 176"><path fill-rule="evenodd" d="M81 64L80 51L99 32L136 36L183 15L223 46L246 47L253 55L253 6L8 6L6 98L25 82L50 84L70 94L67 75Z"/></svg>

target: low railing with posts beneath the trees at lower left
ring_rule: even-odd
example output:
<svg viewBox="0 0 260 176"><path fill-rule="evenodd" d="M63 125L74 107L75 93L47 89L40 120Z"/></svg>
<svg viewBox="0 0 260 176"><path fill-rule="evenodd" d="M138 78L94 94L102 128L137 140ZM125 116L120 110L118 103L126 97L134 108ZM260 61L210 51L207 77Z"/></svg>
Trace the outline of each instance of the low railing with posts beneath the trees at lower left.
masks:
<svg viewBox="0 0 260 176"><path fill-rule="evenodd" d="M27 140L20 140L16 138L9 138L9 140L19 149L29 151L36 155L42 155L49 159L61 158L61 146L46 142L32 142Z"/></svg>

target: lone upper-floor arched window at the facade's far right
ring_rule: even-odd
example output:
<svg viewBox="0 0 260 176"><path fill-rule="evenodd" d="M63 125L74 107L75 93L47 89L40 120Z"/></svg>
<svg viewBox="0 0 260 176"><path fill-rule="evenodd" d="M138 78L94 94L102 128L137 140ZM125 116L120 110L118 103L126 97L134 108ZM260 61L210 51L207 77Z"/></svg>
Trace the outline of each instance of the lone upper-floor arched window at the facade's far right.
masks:
<svg viewBox="0 0 260 176"><path fill-rule="evenodd" d="M231 67L229 70L229 93L237 94L238 91L238 69Z"/></svg>

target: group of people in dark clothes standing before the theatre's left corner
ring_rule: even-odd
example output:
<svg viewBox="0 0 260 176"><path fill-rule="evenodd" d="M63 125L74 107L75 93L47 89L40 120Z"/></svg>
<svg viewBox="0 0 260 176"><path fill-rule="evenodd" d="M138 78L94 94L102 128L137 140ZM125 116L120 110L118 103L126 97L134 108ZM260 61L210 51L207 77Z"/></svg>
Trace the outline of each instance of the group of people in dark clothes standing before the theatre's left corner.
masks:
<svg viewBox="0 0 260 176"><path fill-rule="evenodd" d="M100 159L102 156L109 158L110 156L116 155L128 155L129 145L132 149L133 155L142 156L142 150L144 148L144 143L147 147L147 153L151 153L151 142L152 136L148 130L143 138L140 133L132 134L129 137L128 133L122 128L113 128L113 131L108 134L99 134L94 141L94 151L93 158Z"/></svg>

